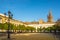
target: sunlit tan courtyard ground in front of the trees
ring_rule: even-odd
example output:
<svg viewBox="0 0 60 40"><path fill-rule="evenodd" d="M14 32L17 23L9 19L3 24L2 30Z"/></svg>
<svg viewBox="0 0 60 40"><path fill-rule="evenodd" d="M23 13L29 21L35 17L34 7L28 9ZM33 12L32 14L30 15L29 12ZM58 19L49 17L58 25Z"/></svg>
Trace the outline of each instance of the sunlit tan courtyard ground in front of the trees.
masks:
<svg viewBox="0 0 60 40"><path fill-rule="evenodd" d="M59 40L50 33L19 33L11 34L11 40ZM7 35L0 36L0 40L7 40Z"/></svg>

